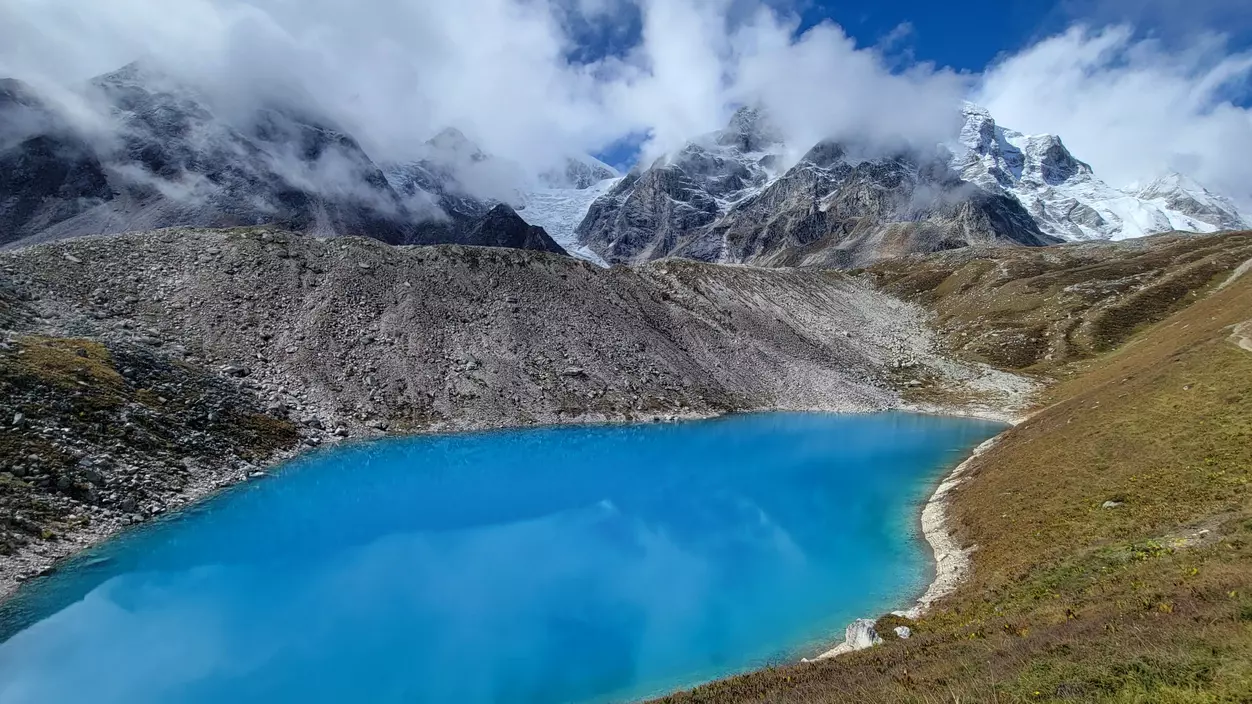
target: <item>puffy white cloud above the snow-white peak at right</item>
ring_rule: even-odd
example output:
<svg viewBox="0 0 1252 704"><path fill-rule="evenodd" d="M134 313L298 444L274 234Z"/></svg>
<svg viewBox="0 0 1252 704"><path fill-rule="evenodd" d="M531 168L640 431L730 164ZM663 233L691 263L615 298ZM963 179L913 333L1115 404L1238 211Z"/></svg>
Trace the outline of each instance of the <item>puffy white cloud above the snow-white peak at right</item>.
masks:
<svg viewBox="0 0 1252 704"><path fill-rule="evenodd" d="M1112 185L1182 172L1252 204L1252 53L1196 34L1167 49L1128 26L1075 26L1012 55L975 101L1004 127L1059 134Z"/></svg>

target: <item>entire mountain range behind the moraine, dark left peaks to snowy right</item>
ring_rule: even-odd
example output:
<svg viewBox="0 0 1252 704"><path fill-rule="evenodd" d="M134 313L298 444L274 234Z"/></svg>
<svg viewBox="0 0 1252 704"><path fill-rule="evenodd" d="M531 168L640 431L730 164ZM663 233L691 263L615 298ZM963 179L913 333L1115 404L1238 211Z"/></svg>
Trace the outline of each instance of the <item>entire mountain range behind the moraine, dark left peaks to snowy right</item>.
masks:
<svg viewBox="0 0 1252 704"><path fill-rule="evenodd" d="M417 158L376 160L307 96L240 106L143 64L74 91L80 124L0 80L0 246L173 225L277 224L392 244L859 267L970 244L1044 246L1248 227L1179 174L1119 190L1054 135L965 105L953 144L824 140L800 153L745 106L721 130L626 175L586 155L528 179L448 128Z"/></svg>

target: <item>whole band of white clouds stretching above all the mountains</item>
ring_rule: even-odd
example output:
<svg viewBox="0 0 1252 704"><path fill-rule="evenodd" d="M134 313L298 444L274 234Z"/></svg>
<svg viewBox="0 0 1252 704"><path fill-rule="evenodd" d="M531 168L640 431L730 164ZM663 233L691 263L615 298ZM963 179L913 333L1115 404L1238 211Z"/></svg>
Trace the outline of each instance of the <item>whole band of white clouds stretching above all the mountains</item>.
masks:
<svg viewBox="0 0 1252 704"><path fill-rule="evenodd" d="M1075 26L959 74L908 56L914 28L858 45L765 0L8 0L0 75L70 85L135 58L245 104L312 96L381 160L456 125L533 173L623 139L644 157L764 104L803 149L820 138L934 144L962 99L1060 134L1116 185L1167 169L1252 200L1252 56Z"/></svg>

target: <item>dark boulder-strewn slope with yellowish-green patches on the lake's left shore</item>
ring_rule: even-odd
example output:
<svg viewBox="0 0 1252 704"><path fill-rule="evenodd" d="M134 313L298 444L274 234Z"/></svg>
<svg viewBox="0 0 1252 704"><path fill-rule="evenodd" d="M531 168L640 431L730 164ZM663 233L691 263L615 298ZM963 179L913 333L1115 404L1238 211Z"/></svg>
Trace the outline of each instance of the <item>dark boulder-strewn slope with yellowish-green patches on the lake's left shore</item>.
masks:
<svg viewBox="0 0 1252 704"><path fill-rule="evenodd" d="M0 348L0 555L113 510L139 516L294 425L203 370L129 346L45 336ZM223 470L219 470L223 471Z"/></svg>

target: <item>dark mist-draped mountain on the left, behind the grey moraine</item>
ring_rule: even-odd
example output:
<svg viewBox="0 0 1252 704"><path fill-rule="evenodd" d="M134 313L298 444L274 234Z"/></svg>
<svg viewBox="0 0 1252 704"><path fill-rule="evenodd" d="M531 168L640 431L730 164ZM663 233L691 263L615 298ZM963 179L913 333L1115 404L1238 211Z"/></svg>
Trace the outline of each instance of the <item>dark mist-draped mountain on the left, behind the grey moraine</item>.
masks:
<svg viewBox="0 0 1252 704"><path fill-rule="evenodd" d="M83 130L18 80L0 81L0 246L162 227L275 224L393 244L470 243L560 251L513 214L454 188L453 154L384 174L310 100L270 95L227 109L143 64L79 89L106 129ZM458 174L459 175L459 174ZM507 208L507 207L506 207ZM488 218L488 215L491 215Z"/></svg>

